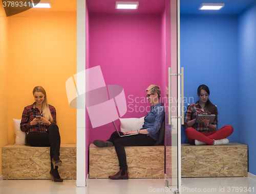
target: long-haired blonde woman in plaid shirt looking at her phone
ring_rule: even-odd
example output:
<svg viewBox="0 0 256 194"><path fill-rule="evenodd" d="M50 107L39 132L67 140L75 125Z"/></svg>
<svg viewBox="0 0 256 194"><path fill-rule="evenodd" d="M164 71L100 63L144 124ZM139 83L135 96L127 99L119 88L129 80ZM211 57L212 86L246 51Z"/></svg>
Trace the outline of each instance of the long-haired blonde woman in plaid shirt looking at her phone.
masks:
<svg viewBox="0 0 256 194"><path fill-rule="evenodd" d="M35 102L26 106L22 114L20 129L27 133L26 141L32 147L50 146L51 170L54 182L63 182L58 173L60 135L56 125L56 110L47 102L46 91L41 86L33 89Z"/></svg>

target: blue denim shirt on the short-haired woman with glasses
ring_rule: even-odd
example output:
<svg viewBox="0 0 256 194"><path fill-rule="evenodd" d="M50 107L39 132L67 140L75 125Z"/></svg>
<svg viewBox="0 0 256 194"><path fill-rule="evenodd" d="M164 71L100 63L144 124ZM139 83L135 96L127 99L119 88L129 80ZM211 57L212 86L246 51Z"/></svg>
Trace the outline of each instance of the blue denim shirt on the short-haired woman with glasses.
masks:
<svg viewBox="0 0 256 194"><path fill-rule="evenodd" d="M141 129L146 129L150 137L158 140L159 129L164 118L164 106L163 103L158 103L155 106L151 106L150 112L148 112L144 118L144 125Z"/></svg>

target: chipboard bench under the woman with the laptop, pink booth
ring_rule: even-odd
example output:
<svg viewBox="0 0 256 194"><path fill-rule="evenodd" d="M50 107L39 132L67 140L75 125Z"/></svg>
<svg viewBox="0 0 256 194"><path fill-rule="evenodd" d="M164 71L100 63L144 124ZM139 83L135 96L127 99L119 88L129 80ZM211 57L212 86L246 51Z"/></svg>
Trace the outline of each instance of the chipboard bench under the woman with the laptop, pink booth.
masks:
<svg viewBox="0 0 256 194"><path fill-rule="evenodd" d="M164 146L124 147L129 178L164 178ZM113 147L90 145L89 178L109 178L119 171Z"/></svg>

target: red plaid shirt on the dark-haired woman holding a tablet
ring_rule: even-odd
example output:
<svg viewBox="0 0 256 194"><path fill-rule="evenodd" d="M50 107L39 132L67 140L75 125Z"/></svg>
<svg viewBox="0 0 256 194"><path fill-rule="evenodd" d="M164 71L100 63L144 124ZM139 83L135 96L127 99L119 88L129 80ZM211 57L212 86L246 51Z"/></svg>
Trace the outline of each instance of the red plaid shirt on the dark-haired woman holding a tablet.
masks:
<svg viewBox="0 0 256 194"><path fill-rule="evenodd" d="M184 117L184 125L182 125L182 127L188 128L187 122L189 122L189 120L195 119L198 114L210 114L210 112L205 108L204 108L204 111L202 111L202 107L200 106L198 101L195 104L188 105L187 111ZM218 127L218 120L215 118L214 122L211 123L211 125L216 125ZM204 123L195 123L191 127L193 127L199 132L204 132L204 133L211 132L211 130L208 127L206 127Z"/></svg>

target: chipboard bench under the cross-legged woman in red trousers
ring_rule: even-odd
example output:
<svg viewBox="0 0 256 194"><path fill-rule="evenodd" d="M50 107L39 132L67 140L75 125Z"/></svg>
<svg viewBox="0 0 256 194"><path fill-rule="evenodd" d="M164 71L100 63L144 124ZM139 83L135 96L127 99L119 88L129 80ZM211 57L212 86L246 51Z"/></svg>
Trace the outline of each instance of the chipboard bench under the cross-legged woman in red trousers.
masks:
<svg viewBox="0 0 256 194"><path fill-rule="evenodd" d="M181 177L247 177L247 145L181 144Z"/></svg>

